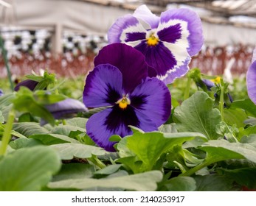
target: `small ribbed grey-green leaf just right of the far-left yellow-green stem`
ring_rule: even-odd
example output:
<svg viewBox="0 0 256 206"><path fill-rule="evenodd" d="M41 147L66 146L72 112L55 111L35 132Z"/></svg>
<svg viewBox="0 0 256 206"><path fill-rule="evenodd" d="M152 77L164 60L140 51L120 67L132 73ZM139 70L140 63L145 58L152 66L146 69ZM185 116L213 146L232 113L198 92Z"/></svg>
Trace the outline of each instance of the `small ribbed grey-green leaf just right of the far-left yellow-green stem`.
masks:
<svg viewBox="0 0 256 206"><path fill-rule="evenodd" d="M41 127L38 123L34 123L34 122L14 123L13 130L21 133L26 137L29 137L30 135L35 135L35 134L49 133L47 129L45 129L44 127Z"/></svg>

